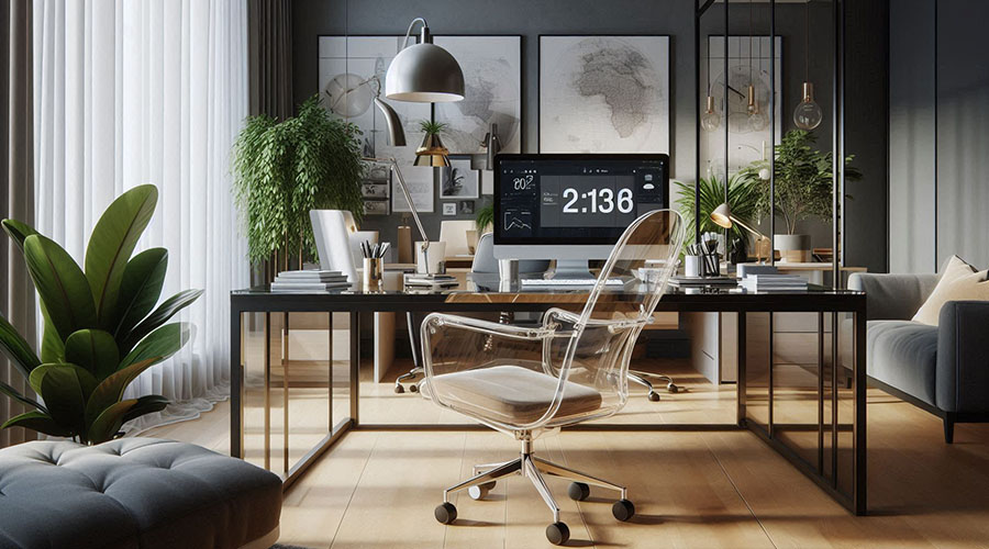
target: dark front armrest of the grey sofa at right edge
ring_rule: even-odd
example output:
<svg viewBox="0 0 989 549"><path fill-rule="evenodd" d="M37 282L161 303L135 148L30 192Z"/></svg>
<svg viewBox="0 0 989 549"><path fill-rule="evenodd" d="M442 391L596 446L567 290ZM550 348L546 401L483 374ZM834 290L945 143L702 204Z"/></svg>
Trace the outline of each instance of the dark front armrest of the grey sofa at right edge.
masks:
<svg viewBox="0 0 989 549"><path fill-rule="evenodd" d="M989 301L949 301L937 321L935 399L945 412L989 412Z"/></svg>

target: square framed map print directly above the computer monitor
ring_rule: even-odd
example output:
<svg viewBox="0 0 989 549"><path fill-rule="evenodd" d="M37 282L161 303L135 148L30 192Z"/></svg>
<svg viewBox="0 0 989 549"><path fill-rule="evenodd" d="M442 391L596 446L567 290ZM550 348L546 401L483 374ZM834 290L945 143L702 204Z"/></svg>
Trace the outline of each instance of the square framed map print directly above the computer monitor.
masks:
<svg viewBox="0 0 989 549"><path fill-rule="evenodd" d="M540 153L669 153L669 36L540 36Z"/></svg>

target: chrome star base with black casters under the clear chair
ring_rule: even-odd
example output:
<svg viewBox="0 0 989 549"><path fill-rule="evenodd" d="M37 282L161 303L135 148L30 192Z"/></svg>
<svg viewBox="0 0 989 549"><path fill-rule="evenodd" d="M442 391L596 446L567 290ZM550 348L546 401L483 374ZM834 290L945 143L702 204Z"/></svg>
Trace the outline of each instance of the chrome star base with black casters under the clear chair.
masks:
<svg viewBox="0 0 989 549"><path fill-rule="evenodd" d="M553 524L546 528L546 537L554 545L565 544L569 538L569 529L559 519L559 505L553 497L553 493L549 492L543 475L548 474L571 481L568 494L576 501L584 501L590 494L588 484L615 490L621 493L621 498L612 506L611 511L614 517L625 522L635 514L635 507L626 498L627 490L625 486L536 457L532 452L531 439L522 439L522 453L520 457L501 463L474 466L474 472L475 475L470 479L443 491L443 503L434 512L438 522L452 524L457 517L456 507L449 503L449 494L467 490L468 495L473 500L482 500L494 488L498 479L503 479L511 474L521 474L529 479L540 496L543 497L543 502L549 507L549 511L553 513Z"/></svg>

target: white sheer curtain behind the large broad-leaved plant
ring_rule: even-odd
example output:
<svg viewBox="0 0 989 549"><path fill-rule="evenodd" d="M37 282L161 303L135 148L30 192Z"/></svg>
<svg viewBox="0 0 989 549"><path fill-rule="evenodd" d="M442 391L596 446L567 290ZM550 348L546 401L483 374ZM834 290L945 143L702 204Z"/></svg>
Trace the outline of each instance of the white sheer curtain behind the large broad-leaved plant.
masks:
<svg viewBox="0 0 989 549"><path fill-rule="evenodd" d="M163 299L196 337L129 389L176 404L135 432L198 416L229 393L229 292L247 285L230 150L247 115L244 0L34 0L36 225L80 262L121 192L151 182L158 208L138 248L169 251Z"/></svg>

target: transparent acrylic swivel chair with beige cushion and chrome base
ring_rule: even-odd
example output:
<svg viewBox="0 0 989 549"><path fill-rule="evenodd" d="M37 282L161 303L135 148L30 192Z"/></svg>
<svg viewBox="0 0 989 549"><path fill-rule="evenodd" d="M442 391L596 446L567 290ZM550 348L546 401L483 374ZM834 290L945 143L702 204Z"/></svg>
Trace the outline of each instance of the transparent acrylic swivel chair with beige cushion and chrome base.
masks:
<svg viewBox="0 0 989 549"><path fill-rule="evenodd" d="M624 486L552 463L533 453L533 440L563 426L608 417L629 399L629 360L676 269L684 223L670 210L642 215L625 229L598 276L582 311L551 309L540 326L519 327L433 313L422 324L424 396L521 442L521 456L475 466L475 477L444 490L436 519L451 524L457 509L449 494L469 490L484 498L509 474L530 479L553 512L551 542L569 538L544 474L573 481L569 496L584 500L588 485L620 492L612 514L627 520L635 507ZM635 277L648 266L649 276ZM624 287L608 287L613 278Z"/></svg>

